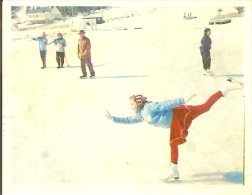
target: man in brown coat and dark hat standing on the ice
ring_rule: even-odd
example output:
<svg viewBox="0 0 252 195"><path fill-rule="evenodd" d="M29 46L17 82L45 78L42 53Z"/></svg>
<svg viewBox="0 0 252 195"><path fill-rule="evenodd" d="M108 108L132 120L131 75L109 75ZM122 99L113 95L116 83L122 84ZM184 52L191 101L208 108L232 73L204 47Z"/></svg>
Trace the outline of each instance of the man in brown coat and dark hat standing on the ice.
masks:
<svg viewBox="0 0 252 195"><path fill-rule="evenodd" d="M81 79L87 78L87 71L86 71L86 64L88 66L90 77L89 78L95 78L95 71L93 69L93 64L91 62L91 42L89 38L85 37L85 31L80 30L80 38L78 40L78 58L81 60L81 70L82 70L82 76L80 76Z"/></svg>

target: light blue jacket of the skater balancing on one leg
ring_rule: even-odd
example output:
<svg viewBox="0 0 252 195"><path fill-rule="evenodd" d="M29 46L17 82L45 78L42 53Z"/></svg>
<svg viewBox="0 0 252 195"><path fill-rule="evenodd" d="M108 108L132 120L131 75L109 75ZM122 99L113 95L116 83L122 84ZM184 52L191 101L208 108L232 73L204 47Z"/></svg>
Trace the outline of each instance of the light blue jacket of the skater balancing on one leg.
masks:
<svg viewBox="0 0 252 195"><path fill-rule="evenodd" d="M147 122L148 124L169 128L172 120L172 108L185 103L184 98L165 100L162 102L146 102L143 108L139 109L138 115L126 118L114 117L113 122L121 124L134 124Z"/></svg>

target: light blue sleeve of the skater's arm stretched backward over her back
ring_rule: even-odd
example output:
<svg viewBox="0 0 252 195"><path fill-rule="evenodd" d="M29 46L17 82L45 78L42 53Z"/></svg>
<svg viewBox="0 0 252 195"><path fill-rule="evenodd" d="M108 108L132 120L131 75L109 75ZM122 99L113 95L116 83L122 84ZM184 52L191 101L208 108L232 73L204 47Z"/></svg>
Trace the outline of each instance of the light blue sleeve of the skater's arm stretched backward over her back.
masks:
<svg viewBox="0 0 252 195"><path fill-rule="evenodd" d="M150 112L157 112L163 110L171 110L175 106L180 106L185 103L184 98L178 98L173 100L165 100L162 102L150 102L147 107Z"/></svg>

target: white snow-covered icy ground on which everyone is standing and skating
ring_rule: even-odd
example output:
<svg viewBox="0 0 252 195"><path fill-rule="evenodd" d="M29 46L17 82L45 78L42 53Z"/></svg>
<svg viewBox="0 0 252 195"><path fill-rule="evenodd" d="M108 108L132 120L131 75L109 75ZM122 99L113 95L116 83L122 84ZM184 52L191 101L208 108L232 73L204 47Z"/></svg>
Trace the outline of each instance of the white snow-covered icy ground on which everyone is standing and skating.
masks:
<svg viewBox="0 0 252 195"><path fill-rule="evenodd" d="M3 63L4 193L249 192L242 186L244 91L230 92L193 122L179 147L180 180L169 183L159 182L169 168L169 129L118 125L105 117L106 109L132 115L128 97L139 92L153 101L196 93L189 104L201 104L225 85L223 75L244 73L244 18L210 26L217 76L206 77L199 46L215 16L205 13L216 9L191 9L195 20L184 20L184 11L162 8L88 30L93 80L79 79L77 33L44 30L49 42L57 32L66 33L70 65L56 68L52 44L44 70L38 43L26 38L41 30L12 33ZM112 27L128 30L102 30Z"/></svg>

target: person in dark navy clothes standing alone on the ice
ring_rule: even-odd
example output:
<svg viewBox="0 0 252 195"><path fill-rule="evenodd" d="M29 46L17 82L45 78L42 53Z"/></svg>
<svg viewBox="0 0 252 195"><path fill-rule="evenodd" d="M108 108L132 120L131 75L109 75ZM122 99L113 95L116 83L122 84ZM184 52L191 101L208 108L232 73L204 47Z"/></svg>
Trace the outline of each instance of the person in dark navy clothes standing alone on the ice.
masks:
<svg viewBox="0 0 252 195"><path fill-rule="evenodd" d="M204 36L201 39L200 53L202 56L203 68L205 70L205 74L214 75L213 72L210 71L211 66L211 56L210 49L212 45L212 40L210 38L211 29L206 28L204 30Z"/></svg>

